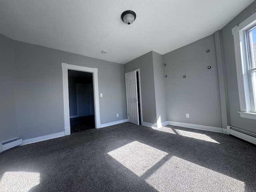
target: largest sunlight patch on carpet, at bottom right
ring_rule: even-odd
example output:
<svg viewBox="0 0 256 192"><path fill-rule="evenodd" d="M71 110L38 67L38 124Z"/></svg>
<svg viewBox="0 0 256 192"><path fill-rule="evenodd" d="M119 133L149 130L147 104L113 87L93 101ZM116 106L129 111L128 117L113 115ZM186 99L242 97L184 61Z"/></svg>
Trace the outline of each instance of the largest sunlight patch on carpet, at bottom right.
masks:
<svg viewBox="0 0 256 192"><path fill-rule="evenodd" d="M222 191L245 190L244 182L172 156L146 182L159 192L166 191Z"/></svg>

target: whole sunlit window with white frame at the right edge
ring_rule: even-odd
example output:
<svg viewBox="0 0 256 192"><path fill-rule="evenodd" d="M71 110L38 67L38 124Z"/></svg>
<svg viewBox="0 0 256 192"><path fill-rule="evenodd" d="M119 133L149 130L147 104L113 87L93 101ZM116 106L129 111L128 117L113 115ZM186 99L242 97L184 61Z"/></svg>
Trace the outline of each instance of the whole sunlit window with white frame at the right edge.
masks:
<svg viewBox="0 0 256 192"><path fill-rule="evenodd" d="M256 120L256 14L232 28L240 116Z"/></svg>

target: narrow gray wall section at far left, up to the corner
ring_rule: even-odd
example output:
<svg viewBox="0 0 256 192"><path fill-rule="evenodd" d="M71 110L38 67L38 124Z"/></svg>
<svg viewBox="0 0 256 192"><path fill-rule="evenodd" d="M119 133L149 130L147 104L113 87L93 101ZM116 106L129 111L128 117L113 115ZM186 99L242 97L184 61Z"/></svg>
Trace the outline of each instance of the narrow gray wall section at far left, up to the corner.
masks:
<svg viewBox="0 0 256 192"><path fill-rule="evenodd" d="M14 41L0 34L0 142L17 136Z"/></svg>

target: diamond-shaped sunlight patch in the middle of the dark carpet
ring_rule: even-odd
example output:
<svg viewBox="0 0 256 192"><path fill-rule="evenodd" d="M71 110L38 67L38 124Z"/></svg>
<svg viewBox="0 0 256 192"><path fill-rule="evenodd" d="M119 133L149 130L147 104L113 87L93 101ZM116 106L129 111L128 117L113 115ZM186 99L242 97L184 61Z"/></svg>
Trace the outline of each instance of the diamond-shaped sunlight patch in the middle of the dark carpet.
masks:
<svg viewBox="0 0 256 192"><path fill-rule="evenodd" d="M147 170L168 155L166 152L138 141L112 150L108 154L137 176L142 176Z"/></svg>

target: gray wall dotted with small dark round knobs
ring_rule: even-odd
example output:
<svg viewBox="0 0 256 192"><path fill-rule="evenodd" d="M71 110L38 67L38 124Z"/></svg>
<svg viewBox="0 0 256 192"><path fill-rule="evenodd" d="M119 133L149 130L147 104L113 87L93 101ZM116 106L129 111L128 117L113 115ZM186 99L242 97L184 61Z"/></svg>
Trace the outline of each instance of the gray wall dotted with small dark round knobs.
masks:
<svg viewBox="0 0 256 192"><path fill-rule="evenodd" d="M214 35L164 54L163 62L168 121L221 128Z"/></svg>

